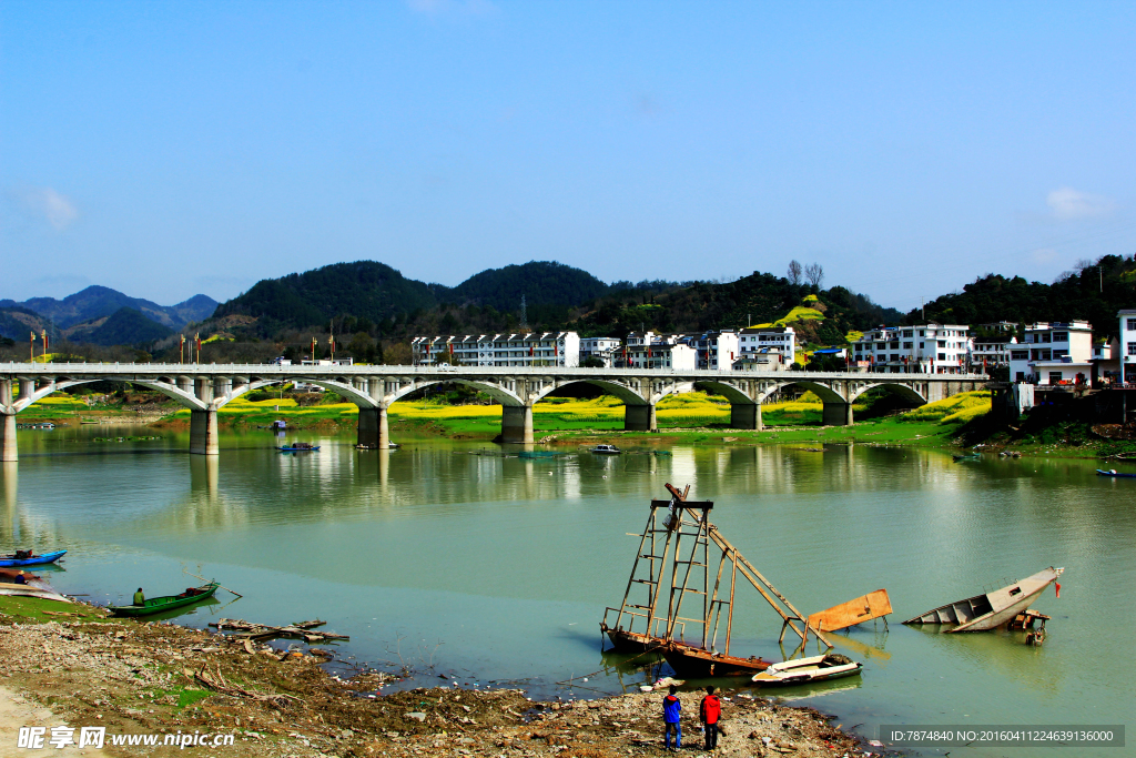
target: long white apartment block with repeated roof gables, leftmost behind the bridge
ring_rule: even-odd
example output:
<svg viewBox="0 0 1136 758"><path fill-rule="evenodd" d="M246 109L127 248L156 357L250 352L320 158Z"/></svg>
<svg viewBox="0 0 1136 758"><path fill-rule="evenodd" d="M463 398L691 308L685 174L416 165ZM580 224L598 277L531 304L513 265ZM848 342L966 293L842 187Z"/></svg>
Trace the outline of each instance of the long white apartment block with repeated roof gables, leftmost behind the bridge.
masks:
<svg viewBox="0 0 1136 758"><path fill-rule="evenodd" d="M438 356L453 356L460 366L578 366L576 332L523 332L416 336L410 341L416 366L432 366Z"/></svg>

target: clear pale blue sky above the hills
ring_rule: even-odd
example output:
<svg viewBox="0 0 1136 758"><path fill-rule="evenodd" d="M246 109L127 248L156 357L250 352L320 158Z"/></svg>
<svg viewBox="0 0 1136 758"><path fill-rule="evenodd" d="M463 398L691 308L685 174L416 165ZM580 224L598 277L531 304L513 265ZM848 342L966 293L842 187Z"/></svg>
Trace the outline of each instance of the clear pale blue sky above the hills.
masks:
<svg viewBox="0 0 1136 758"><path fill-rule="evenodd" d="M0 3L0 298L1136 252L1136 3Z"/></svg>

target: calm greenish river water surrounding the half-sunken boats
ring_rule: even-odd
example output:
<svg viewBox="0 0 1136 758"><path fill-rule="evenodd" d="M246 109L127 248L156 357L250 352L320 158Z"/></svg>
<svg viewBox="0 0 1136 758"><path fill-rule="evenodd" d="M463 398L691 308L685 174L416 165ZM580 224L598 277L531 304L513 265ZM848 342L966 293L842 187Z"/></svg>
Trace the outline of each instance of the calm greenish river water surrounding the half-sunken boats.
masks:
<svg viewBox="0 0 1136 758"><path fill-rule="evenodd" d="M318 617L351 635L344 655L412 666L419 683L444 673L534 697L599 697L659 673L602 656L598 622L623 595L637 548L628 533L671 482L712 500L722 533L805 613L887 589L889 628L834 635L863 675L784 692L845 727L876 739L880 724L1122 724L1134 713L1136 480L1099 477L1093 461L957 464L862 445L677 445L670 456L546 461L449 441L356 451L348 436L282 455L267 432L224 436L219 459L207 460L184 452L182 434L92 441L108 433L22 431L20 461L2 469L0 488L0 548L69 549L52 582L100 602L130 602L140 584L154 595L179 590L197 583L189 569L244 597L223 608L232 595L220 592L179 623ZM1042 648L1021 633L900 623L1047 566L1066 573L1060 599L1051 589L1034 605L1053 617ZM780 659L779 631L779 617L740 588L733 652ZM557 684L569 677L570 691Z"/></svg>

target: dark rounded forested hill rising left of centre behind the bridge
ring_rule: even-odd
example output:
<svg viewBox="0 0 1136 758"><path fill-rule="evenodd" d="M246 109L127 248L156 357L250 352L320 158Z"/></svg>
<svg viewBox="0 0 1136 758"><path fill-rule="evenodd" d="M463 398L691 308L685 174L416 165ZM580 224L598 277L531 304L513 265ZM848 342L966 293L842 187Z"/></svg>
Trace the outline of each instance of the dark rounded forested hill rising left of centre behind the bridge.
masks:
<svg viewBox="0 0 1136 758"><path fill-rule="evenodd" d="M429 285L407 278L385 264L357 260L261 280L248 292L218 306L214 315L253 316L260 319L259 330L269 332L323 324L343 315L378 323L436 305Z"/></svg>

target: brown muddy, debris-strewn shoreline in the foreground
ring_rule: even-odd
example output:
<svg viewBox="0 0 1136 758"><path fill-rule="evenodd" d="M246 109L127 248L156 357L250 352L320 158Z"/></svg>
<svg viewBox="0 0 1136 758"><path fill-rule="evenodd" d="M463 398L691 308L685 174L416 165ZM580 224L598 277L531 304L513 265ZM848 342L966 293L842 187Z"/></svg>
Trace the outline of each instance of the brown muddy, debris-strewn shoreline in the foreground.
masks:
<svg viewBox="0 0 1136 758"><path fill-rule="evenodd" d="M109 618L82 603L0 598L0 698L33 705L48 726L233 734L226 755L273 758L663 752L660 692L535 702L521 690L470 690L441 678L438 686L385 692L396 674L357 668L341 676L326 660L294 642L247 645L225 633ZM684 752L702 752L701 694L680 693ZM720 755L880 755L810 708L730 691L722 706ZM0 731L0 740L9 738ZM175 751L105 745L118 756Z"/></svg>

